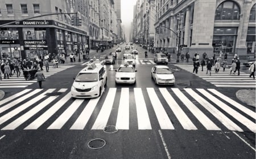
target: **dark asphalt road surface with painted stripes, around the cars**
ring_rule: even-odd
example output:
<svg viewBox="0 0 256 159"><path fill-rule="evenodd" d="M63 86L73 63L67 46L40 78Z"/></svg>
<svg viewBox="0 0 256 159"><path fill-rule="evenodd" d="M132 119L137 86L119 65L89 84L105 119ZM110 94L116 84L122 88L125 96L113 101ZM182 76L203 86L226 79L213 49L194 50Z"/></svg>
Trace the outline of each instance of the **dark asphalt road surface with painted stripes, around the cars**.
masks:
<svg viewBox="0 0 256 159"><path fill-rule="evenodd" d="M138 47L138 49L139 54L135 55L135 57L138 60L144 60L144 49L141 47ZM113 50L97 53L97 57L102 59L104 54L108 54ZM148 53L146 60L153 57L154 54ZM17 104L11 105L5 111L1 111L2 106L11 101L1 105L0 158L255 158L255 132L250 130L250 126L255 128L255 116L251 117L246 112L235 108L225 101L228 97L243 105L246 110L255 112L255 108L237 100L236 92L239 88L218 88L195 74L177 68L172 63L169 63L168 66L175 70L176 84L173 86L155 85L150 75L150 70L154 65L143 65L142 63L136 66L138 70L137 82L134 85L117 85L114 82L114 70L122 63L122 53L118 53L116 65L105 66L108 71L108 83L105 92L99 98L88 122L81 130L72 130L71 127L77 118L80 117L81 112L89 107L87 105L90 101L89 99L82 100L82 104L79 106L80 100L71 98L56 110L50 118L42 118L44 122L38 128L26 130L28 125L33 126L31 123L42 117L42 114L67 95L73 83L73 76L84 67L80 64L49 76L43 83L42 92L52 88L55 89L54 92L62 88L67 88L67 90L55 94L55 96L48 96L47 94L43 96L40 92L36 93ZM26 89L32 89L32 91L36 88L38 88L37 83L26 87ZM126 94L129 97L128 101L127 98L121 98L123 97L123 88L129 88L129 92ZM135 88L138 88L137 91ZM177 105L187 114L187 121L185 121L186 115L180 116L181 113L176 114L179 108L176 107L175 102L171 102L173 104L172 107L168 105L166 98L160 91L161 88L167 88L167 91L174 98ZM5 98L11 97L23 89L3 89L6 92ZM186 91L190 89L195 91L195 96L191 96ZM220 99L219 96L211 93L213 97L220 100L213 100L213 97L210 100L204 96L204 93L200 93L200 91L207 91L207 89L217 90L225 94L225 97ZM125 128L120 129L115 133L106 133L103 130L92 129L99 114L102 112L101 110L104 107L108 107L109 103L111 103L110 99L112 96L114 97L113 106L110 107L111 111L109 112L106 125L115 126L119 109L122 105L127 105L127 102L129 102L129 108L126 109L128 111L123 114L124 116L128 114L129 128L127 130ZM49 97L53 97L53 100L47 101ZM211 111L208 111L204 108L204 105L200 104L200 101L203 101L200 97L216 108L211 109L212 111L218 111L217 114L225 114L230 119L229 123L225 125L224 118L221 118L221 121L220 118L214 117L214 113L210 113ZM31 106L27 103L29 101L32 101ZM46 104L47 102L49 104ZM73 102L77 103L72 105ZM237 119L232 113L229 114L224 111L222 108L225 108L226 105L242 114L247 120L240 117L237 117ZM28 117L26 113L36 108L36 106L39 106L38 111L36 113L32 111L31 117L26 119ZM143 106L146 106L147 113L145 113ZM70 117L68 117L68 114L64 115L62 121L66 119L67 122L64 122L60 128L49 129L51 124L59 119L68 108L71 109L70 111L73 110L73 113ZM199 110L196 108L199 108ZM166 110L166 113L163 113L162 110ZM205 115L200 114L200 110ZM14 111L16 114L12 113ZM89 114L89 111L86 111L85 114L87 112ZM195 114L192 112L195 112ZM102 112L103 115L104 113ZM13 117L9 119L10 115L13 115ZM168 118L164 118L165 115ZM5 119L9 120L5 121ZM194 128L184 128L185 124L190 123L189 121L193 123ZM243 123L243 121L248 123ZM14 130L5 130L5 127L9 126L10 123L16 123L16 125L14 124L16 128ZM228 126L232 125L232 123L240 127L242 132L230 130ZM170 128L170 125L173 125L173 128ZM163 128L164 126L168 128ZM100 149L90 149L88 142L92 139L104 139L106 144ZM96 144L102 143L94 144L96 146Z"/></svg>

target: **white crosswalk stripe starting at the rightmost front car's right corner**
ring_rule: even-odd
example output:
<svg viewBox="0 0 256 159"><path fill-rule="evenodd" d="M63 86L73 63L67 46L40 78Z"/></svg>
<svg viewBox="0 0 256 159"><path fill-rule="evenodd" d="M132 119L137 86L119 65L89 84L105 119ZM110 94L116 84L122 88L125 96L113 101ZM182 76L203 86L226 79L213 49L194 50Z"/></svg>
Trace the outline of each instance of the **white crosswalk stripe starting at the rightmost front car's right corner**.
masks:
<svg viewBox="0 0 256 159"><path fill-rule="evenodd" d="M221 130L216 126L199 108L196 107L178 88L172 88L172 91L184 103L185 106L191 111L193 115L203 124L207 130Z"/></svg>

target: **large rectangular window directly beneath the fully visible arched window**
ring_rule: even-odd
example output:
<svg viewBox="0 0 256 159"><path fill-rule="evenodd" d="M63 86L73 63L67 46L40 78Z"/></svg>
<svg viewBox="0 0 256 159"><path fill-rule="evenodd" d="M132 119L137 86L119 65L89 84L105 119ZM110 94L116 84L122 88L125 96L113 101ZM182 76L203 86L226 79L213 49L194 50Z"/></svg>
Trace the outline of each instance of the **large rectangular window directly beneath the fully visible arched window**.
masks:
<svg viewBox="0 0 256 159"><path fill-rule="evenodd" d="M237 41L237 27L214 27L213 30L213 52L234 54Z"/></svg>

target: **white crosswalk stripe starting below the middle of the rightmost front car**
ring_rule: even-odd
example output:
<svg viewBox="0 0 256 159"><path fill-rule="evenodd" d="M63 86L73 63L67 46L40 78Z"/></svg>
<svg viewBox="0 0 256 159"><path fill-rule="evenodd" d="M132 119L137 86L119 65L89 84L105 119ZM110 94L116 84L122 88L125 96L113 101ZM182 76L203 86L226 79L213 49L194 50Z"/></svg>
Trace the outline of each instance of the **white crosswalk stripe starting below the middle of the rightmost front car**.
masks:
<svg viewBox="0 0 256 159"><path fill-rule="evenodd" d="M162 93L162 96L166 100L167 104L174 112L176 118L179 120L181 126L186 130L197 130L196 126L192 123L192 121L188 118L185 112L180 108L171 94L167 91L166 88L159 88L159 91Z"/></svg>

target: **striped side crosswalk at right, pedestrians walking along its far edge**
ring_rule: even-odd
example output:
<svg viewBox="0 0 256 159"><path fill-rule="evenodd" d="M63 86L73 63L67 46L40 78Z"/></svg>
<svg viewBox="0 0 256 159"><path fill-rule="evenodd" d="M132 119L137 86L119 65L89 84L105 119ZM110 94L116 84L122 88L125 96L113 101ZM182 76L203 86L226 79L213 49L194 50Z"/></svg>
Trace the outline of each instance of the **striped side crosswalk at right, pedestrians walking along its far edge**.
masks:
<svg viewBox="0 0 256 159"><path fill-rule="evenodd" d="M193 66L192 65L175 65L177 67L182 68L183 70L186 70L188 72L193 72ZM253 78L249 78L249 74L246 74L244 72L240 72L240 76L237 76L234 74L229 74L228 68L223 71L223 68L220 69L218 73L215 72L214 68L212 68L212 75L209 75L207 73L207 68L204 68L204 71L201 71L201 67L199 67L199 71L196 76L199 76L200 78L209 81L210 83L214 84L216 87L236 87L236 88L255 88L256 83Z"/></svg>

